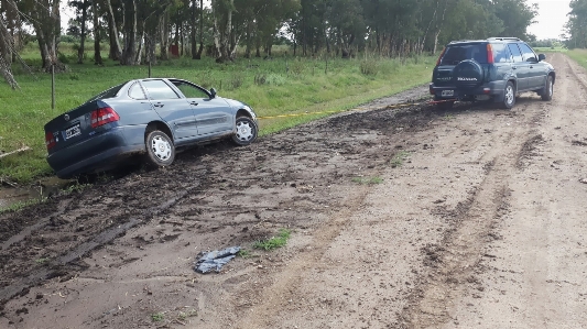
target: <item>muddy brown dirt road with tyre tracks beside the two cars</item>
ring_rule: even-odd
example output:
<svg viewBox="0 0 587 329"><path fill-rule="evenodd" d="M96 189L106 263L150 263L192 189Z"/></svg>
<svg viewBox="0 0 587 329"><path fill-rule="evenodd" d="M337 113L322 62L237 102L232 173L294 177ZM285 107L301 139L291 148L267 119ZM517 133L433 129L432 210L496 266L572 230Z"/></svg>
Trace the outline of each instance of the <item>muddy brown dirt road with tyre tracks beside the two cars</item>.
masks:
<svg viewBox="0 0 587 329"><path fill-rule="evenodd" d="M0 328L587 327L587 77L550 62L550 102L352 112L4 215Z"/></svg>

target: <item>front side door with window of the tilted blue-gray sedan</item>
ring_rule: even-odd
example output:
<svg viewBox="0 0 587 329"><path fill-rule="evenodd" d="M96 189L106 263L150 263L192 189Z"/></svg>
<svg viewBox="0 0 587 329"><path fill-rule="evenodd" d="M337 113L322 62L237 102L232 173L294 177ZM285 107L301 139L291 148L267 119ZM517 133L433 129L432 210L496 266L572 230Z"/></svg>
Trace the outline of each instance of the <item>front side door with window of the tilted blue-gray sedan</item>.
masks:
<svg viewBox="0 0 587 329"><path fill-rule="evenodd" d="M224 99L211 98L207 90L185 80L170 81L194 109L199 136L213 138L233 130L235 111Z"/></svg>

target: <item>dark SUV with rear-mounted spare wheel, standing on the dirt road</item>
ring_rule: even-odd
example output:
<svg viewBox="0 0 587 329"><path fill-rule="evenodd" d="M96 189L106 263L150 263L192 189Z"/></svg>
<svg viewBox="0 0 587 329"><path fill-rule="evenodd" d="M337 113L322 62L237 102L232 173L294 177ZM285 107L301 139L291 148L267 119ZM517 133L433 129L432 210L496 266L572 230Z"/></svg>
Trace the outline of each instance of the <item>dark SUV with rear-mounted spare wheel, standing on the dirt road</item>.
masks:
<svg viewBox="0 0 587 329"><path fill-rule="evenodd" d="M430 92L445 108L478 100L511 109L522 91L551 100L556 73L544 59L517 37L450 42L434 67Z"/></svg>

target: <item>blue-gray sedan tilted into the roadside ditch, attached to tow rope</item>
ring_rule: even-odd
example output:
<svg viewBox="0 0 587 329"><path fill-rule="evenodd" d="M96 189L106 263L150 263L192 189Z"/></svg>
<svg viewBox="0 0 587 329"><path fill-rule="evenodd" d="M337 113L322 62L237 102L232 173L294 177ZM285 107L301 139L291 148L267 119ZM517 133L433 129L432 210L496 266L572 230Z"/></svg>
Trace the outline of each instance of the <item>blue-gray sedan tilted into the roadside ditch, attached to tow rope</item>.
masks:
<svg viewBox="0 0 587 329"><path fill-rule="evenodd" d="M151 167L171 165L178 147L257 139L247 103L174 78L131 80L93 97L45 124L47 162L61 178L110 169L144 154Z"/></svg>

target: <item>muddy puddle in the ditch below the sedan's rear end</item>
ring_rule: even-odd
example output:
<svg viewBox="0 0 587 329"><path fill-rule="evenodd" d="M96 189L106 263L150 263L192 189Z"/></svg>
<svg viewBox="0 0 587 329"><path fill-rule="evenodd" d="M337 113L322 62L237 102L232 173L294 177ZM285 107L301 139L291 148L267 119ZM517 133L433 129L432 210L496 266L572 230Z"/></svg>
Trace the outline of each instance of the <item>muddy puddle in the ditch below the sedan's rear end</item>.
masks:
<svg viewBox="0 0 587 329"><path fill-rule="evenodd" d="M17 202L48 197L51 194L66 187L73 180L59 179L57 177L45 177L31 186L0 187L0 209Z"/></svg>

